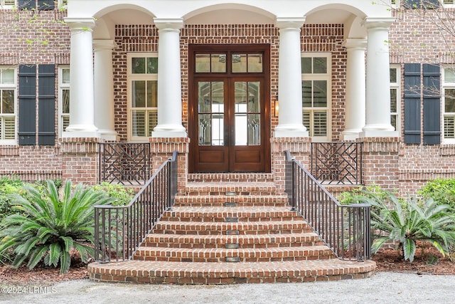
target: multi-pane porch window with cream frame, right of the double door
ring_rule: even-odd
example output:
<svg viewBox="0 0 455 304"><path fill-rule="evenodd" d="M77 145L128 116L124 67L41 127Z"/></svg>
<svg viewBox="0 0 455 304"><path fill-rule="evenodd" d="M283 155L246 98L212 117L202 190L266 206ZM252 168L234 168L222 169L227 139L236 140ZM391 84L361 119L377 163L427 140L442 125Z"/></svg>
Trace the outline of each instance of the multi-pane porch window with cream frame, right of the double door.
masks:
<svg viewBox="0 0 455 304"><path fill-rule="evenodd" d="M331 56L302 53L301 90L303 123L314 141L329 140L331 134Z"/></svg>

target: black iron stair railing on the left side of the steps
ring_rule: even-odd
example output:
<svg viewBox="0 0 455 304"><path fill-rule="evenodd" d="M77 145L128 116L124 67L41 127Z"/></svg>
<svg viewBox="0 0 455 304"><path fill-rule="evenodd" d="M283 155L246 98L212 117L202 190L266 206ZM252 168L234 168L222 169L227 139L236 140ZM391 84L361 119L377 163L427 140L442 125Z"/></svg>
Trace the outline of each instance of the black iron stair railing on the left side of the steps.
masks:
<svg viewBox="0 0 455 304"><path fill-rule="evenodd" d="M127 206L95 206L95 261L129 260L147 234L173 206L177 152L166 160Z"/></svg>

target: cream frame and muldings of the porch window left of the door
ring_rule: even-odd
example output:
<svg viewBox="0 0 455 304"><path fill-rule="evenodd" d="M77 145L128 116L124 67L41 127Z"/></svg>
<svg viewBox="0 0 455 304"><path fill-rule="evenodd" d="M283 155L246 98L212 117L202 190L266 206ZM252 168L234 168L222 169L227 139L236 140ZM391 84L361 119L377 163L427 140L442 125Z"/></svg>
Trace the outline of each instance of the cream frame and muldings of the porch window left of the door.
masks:
<svg viewBox="0 0 455 304"><path fill-rule="evenodd" d="M131 142L148 142L151 136L133 136L133 108L132 108L132 82L134 80L158 80L158 73L150 73L150 74L133 74L132 73L132 58L158 58L158 52L149 52L149 53L127 53L127 102L128 102L128 115L127 115L127 123L128 123L128 140ZM147 110L148 109L148 110ZM158 108L144 108L144 110L156 110L158 112ZM146 130L149 129L149 119L145 117L145 124ZM153 130L151 130L153 131Z"/></svg>

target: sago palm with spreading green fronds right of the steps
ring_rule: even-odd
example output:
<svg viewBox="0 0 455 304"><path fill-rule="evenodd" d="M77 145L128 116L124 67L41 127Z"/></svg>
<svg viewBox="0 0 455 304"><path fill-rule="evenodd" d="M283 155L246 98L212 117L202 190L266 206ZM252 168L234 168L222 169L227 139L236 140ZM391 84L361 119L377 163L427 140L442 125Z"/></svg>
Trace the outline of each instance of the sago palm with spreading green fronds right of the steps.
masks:
<svg viewBox="0 0 455 304"><path fill-rule="evenodd" d="M365 198L374 206L371 211L373 236L372 252L376 253L387 241L398 241L403 257L414 261L416 242L429 242L443 255L455 243L455 215L448 205L439 204L433 199L407 201L387 193L387 204L380 196ZM403 204L403 201L405 204Z"/></svg>

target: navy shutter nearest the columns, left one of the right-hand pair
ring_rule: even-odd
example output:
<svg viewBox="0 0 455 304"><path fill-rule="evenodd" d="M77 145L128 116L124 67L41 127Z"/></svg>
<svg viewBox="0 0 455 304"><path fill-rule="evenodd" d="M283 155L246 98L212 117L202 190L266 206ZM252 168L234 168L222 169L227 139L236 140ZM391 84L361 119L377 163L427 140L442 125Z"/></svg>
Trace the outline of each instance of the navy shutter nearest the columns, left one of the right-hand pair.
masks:
<svg viewBox="0 0 455 304"><path fill-rule="evenodd" d="M405 144L420 143L420 63L405 63Z"/></svg>

